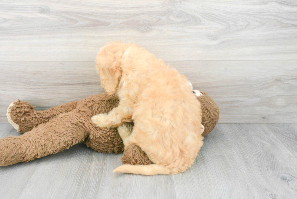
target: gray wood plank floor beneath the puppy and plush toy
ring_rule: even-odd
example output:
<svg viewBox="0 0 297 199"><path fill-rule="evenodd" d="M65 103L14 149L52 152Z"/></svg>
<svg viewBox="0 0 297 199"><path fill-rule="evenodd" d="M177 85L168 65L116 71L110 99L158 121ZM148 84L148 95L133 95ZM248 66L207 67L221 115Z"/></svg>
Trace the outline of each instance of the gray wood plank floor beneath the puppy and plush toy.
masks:
<svg viewBox="0 0 297 199"><path fill-rule="evenodd" d="M0 138L19 135L0 124ZM191 169L177 175L112 173L120 155L82 143L0 167L1 198L296 198L296 124L218 124Z"/></svg>

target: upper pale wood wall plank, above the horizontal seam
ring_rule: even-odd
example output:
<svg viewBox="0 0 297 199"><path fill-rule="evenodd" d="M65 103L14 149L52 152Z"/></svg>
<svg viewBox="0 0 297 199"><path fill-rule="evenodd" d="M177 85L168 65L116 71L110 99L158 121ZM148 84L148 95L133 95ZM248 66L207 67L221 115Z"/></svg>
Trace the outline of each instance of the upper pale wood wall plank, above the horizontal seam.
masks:
<svg viewBox="0 0 297 199"><path fill-rule="evenodd" d="M0 60L93 61L109 41L163 60L297 57L295 0L0 2Z"/></svg>

